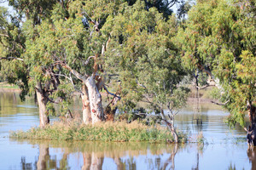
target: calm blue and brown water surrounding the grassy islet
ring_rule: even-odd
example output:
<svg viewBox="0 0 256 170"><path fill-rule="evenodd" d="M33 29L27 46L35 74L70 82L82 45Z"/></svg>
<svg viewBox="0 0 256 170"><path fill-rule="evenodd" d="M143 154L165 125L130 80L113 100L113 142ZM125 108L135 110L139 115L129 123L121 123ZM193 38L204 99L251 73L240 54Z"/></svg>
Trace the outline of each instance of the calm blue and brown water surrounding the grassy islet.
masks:
<svg viewBox="0 0 256 170"><path fill-rule="evenodd" d="M202 133L205 144L15 140L9 139L10 130L38 126L38 107L33 99L20 102L18 94L0 93L0 170L255 169L256 150L247 150L245 131L230 130L225 116L226 111L207 104L201 114L189 105L177 115L176 126L190 133L189 140Z"/></svg>

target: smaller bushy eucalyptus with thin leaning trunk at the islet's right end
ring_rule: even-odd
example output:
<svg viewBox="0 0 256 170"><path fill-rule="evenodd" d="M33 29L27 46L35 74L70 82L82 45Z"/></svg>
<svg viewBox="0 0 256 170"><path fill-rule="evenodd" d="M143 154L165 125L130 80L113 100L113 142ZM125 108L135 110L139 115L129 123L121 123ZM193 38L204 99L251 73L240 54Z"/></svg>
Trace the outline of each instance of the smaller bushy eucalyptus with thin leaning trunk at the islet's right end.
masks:
<svg viewBox="0 0 256 170"><path fill-rule="evenodd" d="M144 7L145 3L137 1L126 7L123 14L108 18L108 25L102 28L109 30L111 37L104 63L111 68L110 73L117 74L123 111L138 101L147 102L153 111L160 112L177 142L174 116L188 96L188 89L180 85L186 72L172 41L177 22L174 16L166 21L157 8Z"/></svg>

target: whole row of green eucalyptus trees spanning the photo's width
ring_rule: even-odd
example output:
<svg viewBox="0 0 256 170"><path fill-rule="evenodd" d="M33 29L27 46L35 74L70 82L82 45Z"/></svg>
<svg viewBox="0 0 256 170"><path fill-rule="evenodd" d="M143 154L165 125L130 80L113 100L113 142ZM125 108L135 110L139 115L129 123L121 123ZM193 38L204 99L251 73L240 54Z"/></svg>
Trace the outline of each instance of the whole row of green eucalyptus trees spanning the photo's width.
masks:
<svg viewBox="0 0 256 170"><path fill-rule="evenodd" d="M206 72L229 121L244 126L249 111L254 128L255 2L182 1L177 17L176 3L9 0L15 13L0 8L1 77L18 84L22 98L36 94L41 127L53 104L67 112L79 92L84 123L111 120L117 108L134 111L144 101L175 135L174 116L189 94L183 80Z"/></svg>

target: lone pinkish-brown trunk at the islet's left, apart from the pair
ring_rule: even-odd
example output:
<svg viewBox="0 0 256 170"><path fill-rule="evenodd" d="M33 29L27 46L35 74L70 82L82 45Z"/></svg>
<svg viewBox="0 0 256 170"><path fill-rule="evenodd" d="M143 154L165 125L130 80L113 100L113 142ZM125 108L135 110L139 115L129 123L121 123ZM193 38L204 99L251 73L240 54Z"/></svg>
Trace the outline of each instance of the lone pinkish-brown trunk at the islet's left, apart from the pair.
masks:
<svg viewBox="0 0 256 170"><path fill-rule="evenodd" d="M38 107L39 107L39 121L40 127L45 127L49 124L49 116L47 114L47 99L44 96L44 90L42 88L41 82L38 82L36 85L37 99L38 99Z"/></svg>

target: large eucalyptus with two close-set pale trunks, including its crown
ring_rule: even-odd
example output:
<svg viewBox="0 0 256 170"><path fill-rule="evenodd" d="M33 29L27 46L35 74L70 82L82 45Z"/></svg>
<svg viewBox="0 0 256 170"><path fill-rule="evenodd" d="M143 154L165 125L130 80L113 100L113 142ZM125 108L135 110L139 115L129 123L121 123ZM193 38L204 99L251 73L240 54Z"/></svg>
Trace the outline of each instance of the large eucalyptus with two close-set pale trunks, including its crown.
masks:
<svg viewBox="0 0 256 170"><path fill-rule="evenodd" d="M119 13L125 4L123 1L73 1L62 10L61 4L56 3L51 17L35 26L36 36L26 41L28 59L40 59L45 63L40 67L47 70L59 67L54 76L67 78L75 88L82 87L84 123L105 118L99 91L104 87L101 56L108 37L101 28L107 17ZM35 28L28 28L27 32L33 35Z"/></svg>

